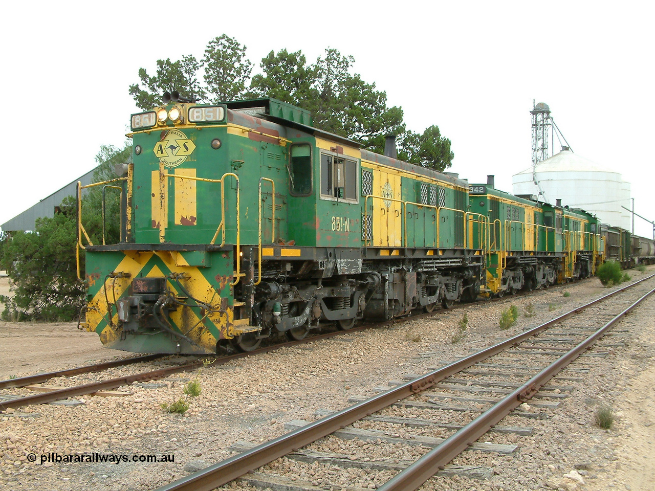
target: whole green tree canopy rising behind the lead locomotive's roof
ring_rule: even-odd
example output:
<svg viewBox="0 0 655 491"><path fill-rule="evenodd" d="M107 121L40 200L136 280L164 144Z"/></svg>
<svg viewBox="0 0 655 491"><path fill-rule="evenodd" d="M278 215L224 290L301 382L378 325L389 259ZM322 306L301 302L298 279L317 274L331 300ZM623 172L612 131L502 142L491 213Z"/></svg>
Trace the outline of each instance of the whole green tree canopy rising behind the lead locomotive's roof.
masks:
<svg viewBox="0 0 655 491"><path fill-rule="evenodd" d="M164 91L178 90L200 103L270 97L307 109L316 128L358 141L371 151L383 153L384 137L393 134L399 158L438 171L450 167L451 142L438 126L422 134L407 130L402 107L388 107L386 92L353 73L354 62L352 56L327 48L308 64L301 51L282 49L269 52L259 64L261 72L252 75L246 46L222 34L208 43L200 60L193 55L175 62L157 60L152 76L141 68L141 82L130 85L130 94L144 111L159 105Z"/></svg>

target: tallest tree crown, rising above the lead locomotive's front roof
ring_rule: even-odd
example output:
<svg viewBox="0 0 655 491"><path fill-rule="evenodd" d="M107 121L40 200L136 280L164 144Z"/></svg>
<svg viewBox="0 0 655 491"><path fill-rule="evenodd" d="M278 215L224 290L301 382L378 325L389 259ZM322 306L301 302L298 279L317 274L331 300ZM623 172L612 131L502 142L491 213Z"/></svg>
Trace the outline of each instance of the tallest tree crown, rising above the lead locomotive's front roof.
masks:
<svg viewBox="0 0 655 491"><path fill-rule="evenodd" d="M211 102L236 100L246 92L253 67L246 58L246 45L221 34L207 44L202 65Z"/></svg>

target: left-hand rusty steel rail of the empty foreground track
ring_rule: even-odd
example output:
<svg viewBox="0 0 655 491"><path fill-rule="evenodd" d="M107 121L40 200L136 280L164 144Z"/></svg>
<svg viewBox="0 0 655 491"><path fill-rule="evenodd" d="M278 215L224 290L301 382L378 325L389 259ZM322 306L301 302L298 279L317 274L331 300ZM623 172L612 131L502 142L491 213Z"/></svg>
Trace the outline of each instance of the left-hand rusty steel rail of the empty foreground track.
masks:
<svg viewBox="0 0 655 491"><path fill-rule="evenodd" d="M357 403L299 429L290 431L290 433L286 433L285 435L277 437L276 439L273 439L269 442L255 446L251 450L247 450L246 452L242 452L227 460L218 462L217 464L207 467L206 469L202 469L191 475L182 477L177 481L170 482L169 484L158 488L157 491L211 491L218 486L227 484L227 482L234 481L234 479L241 477L249 471L253 471L262 465L269 464L273 460L293 452L293 450L297 450L298 448L309 445L310 443L313 443L320 438L326 437L330 433L342 429L364 418L365 416L369 416L374 412L384 409L385 407L388 407L400 401L401 399L405 399L410 395L426 390L444 378L447 378L468 367L471 367L479 361L498 354L523 340L531 338L532 336L535 336L548 329L548 327L552 327L552 325L560 323L565 319L579 314L580 312L586 310L586 308L589 308L598 302L602 302L603 300L608 299L617 293L625 291L626 289L631 288L645 280L648 280L653 276L655 276L655 274L626 285L625 287L613 291L612 293L603 295L603 297L593 300L588 304L574 308L555 319L530 329L529 331L525 331L524 333L512 336L511 338L495 344L494 346L490 346L489 348L485 348L484 350L481 350L477 353L468 355L467 357L454 361L453 363L449 363L449 365L445 365L440 369L432 371L419 378L415 378L410 382L406 382L405 384L384 391L383 393L375 395L370 399L362 401L361 403ZM473 441L475 440L472 440L471 443Z"/></svg>

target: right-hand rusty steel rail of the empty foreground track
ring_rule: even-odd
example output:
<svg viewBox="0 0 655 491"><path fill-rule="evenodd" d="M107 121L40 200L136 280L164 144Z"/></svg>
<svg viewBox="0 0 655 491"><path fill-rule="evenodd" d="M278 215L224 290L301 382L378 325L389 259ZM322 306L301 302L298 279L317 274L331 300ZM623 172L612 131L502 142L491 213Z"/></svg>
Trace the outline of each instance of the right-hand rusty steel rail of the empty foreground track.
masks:
<svg viewBox="0 0 655 491"><path fill-rule="evenodd" d="M646 297L652 295L652 293L655 293L655 289L646 293L641 299L634 302L603 327L595 331L595 333L578 344L578 346L557 359L557 361L553 361L553 363L540 371L540 373L534 375L533 378L525 382L517 390L508 394L504 399L493 405L493 407L480 414L475 420L462 427L462 429L451 435L440 445L434 447L427 454L424 454L419 460L406 467L393 479L387 481L377 489L379 491L413 491L421 487L425 481L430 479L440 469L443 469L448 462L457 457L466 448L473 445L479 437L487 433L489 429L510 414L512 410L521 405L521 403L531 399L548 380L565 369L583 352L591 348L615 323L620 321L620 319L643 302Z"/></svg>

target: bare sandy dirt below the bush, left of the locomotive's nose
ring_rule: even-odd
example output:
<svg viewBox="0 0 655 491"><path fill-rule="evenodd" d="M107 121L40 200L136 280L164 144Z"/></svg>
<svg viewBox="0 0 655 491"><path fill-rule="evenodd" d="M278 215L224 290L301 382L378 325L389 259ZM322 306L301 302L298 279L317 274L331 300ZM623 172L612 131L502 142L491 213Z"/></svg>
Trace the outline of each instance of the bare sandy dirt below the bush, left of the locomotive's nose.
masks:
<svg viewBox="0 0 655 491"><path fill-rule="evenodd" d="M0 295L10 295L6 276L0 276ZM0 312L4 308L0 302ZM0 380L127 355L103 348L96 333L79 331L76 322L0 321Z"/></svg>

